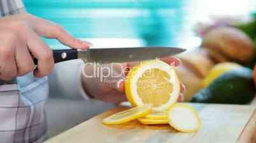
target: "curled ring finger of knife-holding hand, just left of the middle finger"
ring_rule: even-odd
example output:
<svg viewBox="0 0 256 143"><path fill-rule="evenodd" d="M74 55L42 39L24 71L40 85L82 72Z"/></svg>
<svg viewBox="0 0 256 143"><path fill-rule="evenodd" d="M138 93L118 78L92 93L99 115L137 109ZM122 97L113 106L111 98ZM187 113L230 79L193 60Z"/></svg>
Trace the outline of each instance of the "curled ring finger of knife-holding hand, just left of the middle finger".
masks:
<svg viewBox="0 0 256 143"><path fill-rule="evenodd" d="M15 60L17 63L18 76L25 75L34 70L34 63L27 49L27 46L22 41L17 41L15 50Z"/></svg>

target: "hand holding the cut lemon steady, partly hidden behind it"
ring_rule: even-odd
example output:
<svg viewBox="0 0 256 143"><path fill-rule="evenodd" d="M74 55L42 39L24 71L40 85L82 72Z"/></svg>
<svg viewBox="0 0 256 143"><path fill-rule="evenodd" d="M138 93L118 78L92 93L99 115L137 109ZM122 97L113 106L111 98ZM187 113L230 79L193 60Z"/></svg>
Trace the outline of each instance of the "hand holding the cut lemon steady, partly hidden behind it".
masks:
<svg viewBox="0 0 256 143"><path fill-rule="evenodd" d="M162 61L172 66L180 65L180 59L174 57L162 58ZM120 74L124 69L131 69L137 62L123 63L122 65L92 65L86 64L83 70L83 88L93 98L109 103L127 101L124 91L124 79L128 71ZM111 69L108 70L108 69ZM111 73L113 76L109 76ZM178 101L183 101L182 92L185 86L181 84L181 94Z"/></svg>

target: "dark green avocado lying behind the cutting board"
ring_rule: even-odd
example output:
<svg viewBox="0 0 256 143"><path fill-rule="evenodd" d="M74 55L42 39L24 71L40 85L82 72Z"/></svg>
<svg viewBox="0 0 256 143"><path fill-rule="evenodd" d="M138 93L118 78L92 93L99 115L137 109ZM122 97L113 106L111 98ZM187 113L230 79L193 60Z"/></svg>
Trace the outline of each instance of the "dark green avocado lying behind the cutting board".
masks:
<svg viewBox="0 0 256 143"><path fill-rule="evenodd" d="M255 94L250 68L227 71L192 98L192 103L247 104Z"/></svg>

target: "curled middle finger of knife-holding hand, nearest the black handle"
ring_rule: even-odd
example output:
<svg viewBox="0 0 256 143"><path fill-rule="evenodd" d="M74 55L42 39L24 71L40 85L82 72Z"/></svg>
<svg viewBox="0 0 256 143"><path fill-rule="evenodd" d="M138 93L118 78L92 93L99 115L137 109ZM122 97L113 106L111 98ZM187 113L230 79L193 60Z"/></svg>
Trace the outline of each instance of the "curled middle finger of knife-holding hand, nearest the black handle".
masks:
<svg viewBox="0 0 256 143"><path fill-rule="evenodd" d="M27 46L32 55L38 59L38 66L34 70L35 77L45 77L53 70L54 59L52 50L32 30L27 32Z"/></svg>

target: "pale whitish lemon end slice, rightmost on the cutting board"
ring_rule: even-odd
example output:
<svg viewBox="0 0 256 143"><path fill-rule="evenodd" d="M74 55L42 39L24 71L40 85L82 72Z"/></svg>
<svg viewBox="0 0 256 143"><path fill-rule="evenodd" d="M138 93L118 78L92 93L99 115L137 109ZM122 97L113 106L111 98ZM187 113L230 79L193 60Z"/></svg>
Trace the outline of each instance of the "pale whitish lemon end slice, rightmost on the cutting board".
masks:
<svg viewBox="0 0 256 143"><path fill-rule="evenodd" d="M180 132L197 132L201 120L196 109L186 104L174 104L168 112L169 125Z"/></svg>

